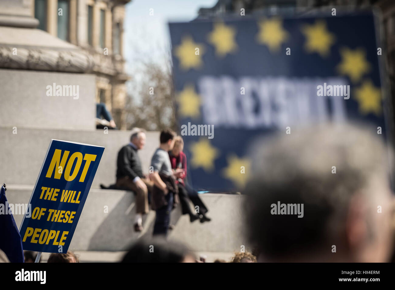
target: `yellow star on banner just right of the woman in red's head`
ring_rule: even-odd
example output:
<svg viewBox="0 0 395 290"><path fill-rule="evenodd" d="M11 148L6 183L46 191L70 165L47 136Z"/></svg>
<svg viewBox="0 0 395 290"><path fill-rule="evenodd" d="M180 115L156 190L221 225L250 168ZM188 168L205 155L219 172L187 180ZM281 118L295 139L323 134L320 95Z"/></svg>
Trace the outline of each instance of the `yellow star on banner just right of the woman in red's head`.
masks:
<svg viewBox="0 0 395 290"><path fill-rule="evenodd" d="M214 169L214 159L218 156L218 150L211 146L207 139L201 139L190 146L192 152L191 164L193 167L203 167L206 171Z"/></svg>

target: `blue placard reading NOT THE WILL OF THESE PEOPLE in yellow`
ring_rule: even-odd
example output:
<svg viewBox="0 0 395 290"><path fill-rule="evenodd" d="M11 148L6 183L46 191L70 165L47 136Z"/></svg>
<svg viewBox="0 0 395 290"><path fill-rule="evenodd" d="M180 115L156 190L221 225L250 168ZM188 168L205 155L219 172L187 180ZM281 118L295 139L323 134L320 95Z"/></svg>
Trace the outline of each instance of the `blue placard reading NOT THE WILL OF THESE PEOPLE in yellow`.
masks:
<svg viewBox="0 0 395 290"><path fill-rule="evenodd" d="M67 252L103 151L51 140L20 229L24 250Z"/></svg>

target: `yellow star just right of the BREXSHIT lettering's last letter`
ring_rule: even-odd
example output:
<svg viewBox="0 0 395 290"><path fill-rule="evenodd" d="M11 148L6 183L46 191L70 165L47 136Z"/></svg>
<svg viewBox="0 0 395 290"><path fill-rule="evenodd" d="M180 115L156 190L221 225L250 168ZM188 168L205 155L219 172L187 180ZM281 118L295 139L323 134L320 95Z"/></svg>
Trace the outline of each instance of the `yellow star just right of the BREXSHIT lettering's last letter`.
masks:
<svg viewBox="0 0 395 290"><path fill-rule="evenodd" d="M373 112L377 116L381 112L380 88L373 86L370 80L363 82L362 86L355 90L355 99L358 101L359 111L366 115Z"/></svg>

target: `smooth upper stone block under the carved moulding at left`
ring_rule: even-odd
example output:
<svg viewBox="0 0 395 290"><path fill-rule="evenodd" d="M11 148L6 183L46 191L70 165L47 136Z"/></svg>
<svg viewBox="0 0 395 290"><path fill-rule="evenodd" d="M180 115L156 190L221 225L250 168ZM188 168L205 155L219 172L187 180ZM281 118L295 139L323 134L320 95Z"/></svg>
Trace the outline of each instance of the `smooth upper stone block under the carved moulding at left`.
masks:
<svg viewBox="0 0 395 290"><path fill-rule="evenodd" d="M47 96L47 86L78 86L73 96ZM90 130L96 128L95 76L0 69L0 126ZM63 90L62 90L63 94Z"/></svg>

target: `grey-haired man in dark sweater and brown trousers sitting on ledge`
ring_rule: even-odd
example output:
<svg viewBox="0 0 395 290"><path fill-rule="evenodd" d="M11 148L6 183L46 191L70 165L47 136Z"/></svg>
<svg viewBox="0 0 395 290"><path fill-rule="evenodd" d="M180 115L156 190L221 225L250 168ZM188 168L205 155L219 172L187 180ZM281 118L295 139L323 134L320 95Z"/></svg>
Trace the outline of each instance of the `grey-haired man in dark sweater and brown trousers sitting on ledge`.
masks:
<svg viewBox="0 0 395 290"><path fill-rule="evenodd" d="M141 160L137 153L144 148L145 131L138 129L130 137L130 143L118 152L117 159L117 187L124 187L136 194L136 218L134 230L143 230L143 214L148 213L148 191L152 189L152 181L144 174Z"/></svg>

